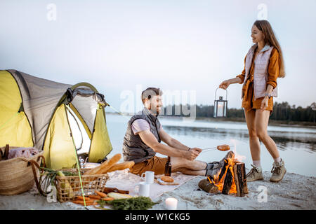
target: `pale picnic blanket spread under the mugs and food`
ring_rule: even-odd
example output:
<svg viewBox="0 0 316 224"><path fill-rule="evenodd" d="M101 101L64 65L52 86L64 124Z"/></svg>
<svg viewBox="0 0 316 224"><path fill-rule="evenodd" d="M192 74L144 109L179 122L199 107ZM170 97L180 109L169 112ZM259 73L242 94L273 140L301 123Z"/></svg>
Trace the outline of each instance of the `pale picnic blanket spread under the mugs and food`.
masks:
<svg viewBox="0 0 316 224"><path fill-rule="evenodd" d="M140 176L131 174L129 172L129 169L117 170L108 174L110 176L110 179L107 181L105 185L106 187L118 188L119 190L129 190L129 195L137 196L135 186L137 183L143 181ZM185 175L180 172L172 173L171 176L174 179L174 182L178 183L178 185L163 186L156 182L152 183L150 186L150 198L152 200L161 196L163 193L175 190L179 186L183 185L183 183L190 181L191 179L194 179L196 177Z"/></svg>

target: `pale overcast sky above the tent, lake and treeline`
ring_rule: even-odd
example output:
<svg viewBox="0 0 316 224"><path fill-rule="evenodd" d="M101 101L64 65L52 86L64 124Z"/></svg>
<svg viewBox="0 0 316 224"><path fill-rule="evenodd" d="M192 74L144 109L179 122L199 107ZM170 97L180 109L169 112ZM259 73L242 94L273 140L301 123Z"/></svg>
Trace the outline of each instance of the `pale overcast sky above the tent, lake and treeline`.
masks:
<svg viewBox="0 0 316 224"><path fill-rule="evenodd" d="M1 0L0 69L91 83L124 112L141 109L147 87L160 87L165 105L213 105L218 85L244 69L251 26L265 18L287 72L275 102L306 107L316 102L315 9L315 0ZM228 87L228 108L241 108L241 91Z"/></svg>

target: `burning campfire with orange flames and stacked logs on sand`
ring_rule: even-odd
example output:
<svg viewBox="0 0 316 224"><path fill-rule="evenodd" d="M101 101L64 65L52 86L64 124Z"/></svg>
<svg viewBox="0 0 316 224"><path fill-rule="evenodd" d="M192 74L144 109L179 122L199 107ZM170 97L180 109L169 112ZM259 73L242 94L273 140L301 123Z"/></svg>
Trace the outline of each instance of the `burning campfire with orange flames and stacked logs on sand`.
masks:
<svg viewBox="0 0 316 224"><path fill-rule="evenodd" d="M244 197L248 193L246 170L243 162L239 162L235 153L230 151L220 171L200 181L199 187L208 193L236 194Z"/></svg>

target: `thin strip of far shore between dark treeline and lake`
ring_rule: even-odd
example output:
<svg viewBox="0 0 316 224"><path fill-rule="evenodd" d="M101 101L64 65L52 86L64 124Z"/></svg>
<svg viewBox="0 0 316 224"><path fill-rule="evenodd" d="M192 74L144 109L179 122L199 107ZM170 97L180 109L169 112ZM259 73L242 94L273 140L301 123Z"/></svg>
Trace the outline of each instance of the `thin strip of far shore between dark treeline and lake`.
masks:
<svg viewBox="0 0 316 224"><path fill-rule="evenodd" d="M115 112L107 112L107 114L114 114L119 115L119 113ZM124 113L125 116L133 116L133 114ZM185 118L184 116L160 116L161 118ZM206 118L206 117L197 117L195 120L202 120L202 121L210 121L210 122L239 122L239 123L246 123L245 118ZM281 126L281 127L308 127L308 128L315 128L316 123L312 122L299 122L299 121L292 121L292 120L269 120L269 125L273 126Z"/></svg>

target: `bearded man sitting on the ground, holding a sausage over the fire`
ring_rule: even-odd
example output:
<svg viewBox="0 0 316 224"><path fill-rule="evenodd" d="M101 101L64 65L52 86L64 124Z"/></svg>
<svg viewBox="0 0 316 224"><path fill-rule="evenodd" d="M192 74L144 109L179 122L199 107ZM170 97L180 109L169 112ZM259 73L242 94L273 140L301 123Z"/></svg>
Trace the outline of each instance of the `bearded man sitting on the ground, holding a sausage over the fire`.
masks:
<svg viewBox="0 0 316 224"><path fill-rule="evenodd" d="M157 118L162 110L162 91L149 87L141 97L144 109L129 120L123 143L124 161L135 162L130 172L138 175L146 171L164 174L168 159L155 155L160 153L171 158L171 172L199 176L217 174L225 158L211 163L195 160L202 149L185 146L163 130Z"/></svg>

